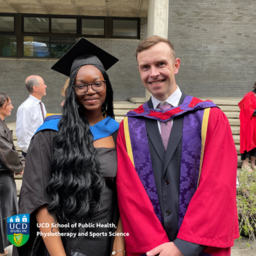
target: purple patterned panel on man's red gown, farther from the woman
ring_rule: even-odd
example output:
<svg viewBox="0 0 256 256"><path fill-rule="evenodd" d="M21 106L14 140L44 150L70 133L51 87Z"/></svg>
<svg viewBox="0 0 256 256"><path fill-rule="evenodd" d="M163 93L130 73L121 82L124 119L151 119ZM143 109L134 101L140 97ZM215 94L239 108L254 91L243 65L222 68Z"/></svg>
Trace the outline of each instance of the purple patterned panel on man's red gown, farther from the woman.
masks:
<svg viewBox="0 0 256 256"><path fill-rule="evenodd" d="M201 158L201 126L204 109L189 113L183 119L181 179L179 198L179 228L196 192ZM174 121L175 122L175 121Z"/></svg>

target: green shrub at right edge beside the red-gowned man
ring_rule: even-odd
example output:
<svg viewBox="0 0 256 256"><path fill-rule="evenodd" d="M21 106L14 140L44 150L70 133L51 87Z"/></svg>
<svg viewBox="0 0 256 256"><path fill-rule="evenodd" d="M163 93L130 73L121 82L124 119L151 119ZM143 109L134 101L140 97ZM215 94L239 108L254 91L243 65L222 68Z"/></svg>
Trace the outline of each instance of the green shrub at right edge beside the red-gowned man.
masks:
<svg viewBox="0 0 256 256"><path fill-rule="evenodd" d="M237 188L237 212L239 233L256 241L256 171L249 172L242 167Z"/></svg>

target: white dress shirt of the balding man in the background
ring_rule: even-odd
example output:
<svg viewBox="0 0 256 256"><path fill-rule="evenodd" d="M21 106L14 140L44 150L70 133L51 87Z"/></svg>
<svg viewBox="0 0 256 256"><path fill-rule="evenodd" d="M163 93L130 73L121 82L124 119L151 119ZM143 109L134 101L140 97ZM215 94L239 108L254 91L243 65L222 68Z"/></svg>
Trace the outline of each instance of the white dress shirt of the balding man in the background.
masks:
<svg viewBox="0 0 256 256"><path fill-rule="evenodd" d="M41 100L33 95L29 95L17 111L16 136L17 145L23 152L28 151L28 146L35 131L43 124L43 114L40 107ZM44 109L44 118L46 117L46 108L42 102Z"/></svg>

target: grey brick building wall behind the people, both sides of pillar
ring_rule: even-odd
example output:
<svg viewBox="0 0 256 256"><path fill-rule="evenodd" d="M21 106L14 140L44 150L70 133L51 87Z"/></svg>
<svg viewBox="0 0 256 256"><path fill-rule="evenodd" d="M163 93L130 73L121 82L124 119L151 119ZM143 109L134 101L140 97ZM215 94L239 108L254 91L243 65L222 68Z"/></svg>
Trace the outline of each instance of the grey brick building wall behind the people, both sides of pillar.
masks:
<svg viewBox="0 0 256 256"><path fill-rule="evenodd" d="M252 89L256 80L255 10L253 0L169 0L167 37L181 59L176 82L183 91L211 98L242 97ZM149 35L148 20L140 18L140 39L89 38L120 59L108 71L114 100L145 97L135 51ZM157 34L157 29L154 31ZM60 90L67 77L51 70L55 62L44 58L0 58L0 91L10 95L15 107L7 122L16 119L19 104L28 97L24 80L32 74L41 75L48 86L43 98L48 112L60 113Z"/></svg>

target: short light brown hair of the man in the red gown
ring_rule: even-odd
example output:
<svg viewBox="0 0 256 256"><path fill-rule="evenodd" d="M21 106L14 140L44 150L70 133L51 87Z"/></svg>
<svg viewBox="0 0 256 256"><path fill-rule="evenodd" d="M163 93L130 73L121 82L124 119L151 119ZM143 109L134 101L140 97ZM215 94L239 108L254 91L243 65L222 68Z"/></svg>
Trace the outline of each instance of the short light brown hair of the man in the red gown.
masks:
<svg viewBox="0 0 256 256"><path fill-rule="evenodd" d="M142 51L145 51L148 48L154 46L155 44L158 44L158 43L161 43L161 42L163 42L165 44L168 44L168 46L170 46L172 55L174 57L174 60L176 60L174 46L171 44L171 42L168 39L165 39L163 37L159 37L158 35L152 35L151 37L147 37L146 39L143 40L143 42L141 42L138 45L137 50L136 50L136 59L138 57L138 53L141 53Z"/></svg>

